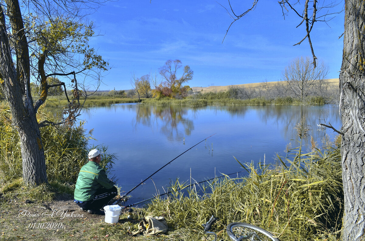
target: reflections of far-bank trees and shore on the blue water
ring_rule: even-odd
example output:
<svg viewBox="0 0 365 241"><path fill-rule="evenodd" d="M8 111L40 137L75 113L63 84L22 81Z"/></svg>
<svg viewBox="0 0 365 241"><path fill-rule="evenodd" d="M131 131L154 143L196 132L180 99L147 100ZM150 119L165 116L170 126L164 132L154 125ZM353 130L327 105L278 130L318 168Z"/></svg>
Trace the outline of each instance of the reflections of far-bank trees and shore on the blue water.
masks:
<svg viewBox="0 0 365 241"><path fill-rule="evenodd" d="M168 140L181 141L184 137L190 136L194 130L193 120L199 119L204 115L200 110L207 110L210 113L215 113L216 116L229 113L231 117L239 117L243 119L254 113L262 122L262 125L273 127L273 130L278 129L280 135L285 139L298 139L296 135L295 125L298 124L301 118L306 118L306 124L310 125L310 136L320 144L320 140L324 137L324 131L318 131L319 123L331 122L336 128L336 125L341 124L338 115L338 108L331 106L210 106L210 107L181 107L181 106L148 106L140 104L122 104L103 106L103 109L108 109L115 112L129 112L134 116L133 125L135 128L138 125L149 127L161 131ZM84 115L89 119L95 111L88 109L84 110ZM119 118L123 118L122 116ZM256 117L255 117L256 118ZM325 120L325 121L324 121ZM244 120L243 120L244 121ZM338 128L339 129L339 128ZM327 130L327 133L331 133ZM268 135L272 135L268 133ZM265 138L265 137L263 137ZM288 141L289 142L289 141ZM303 144L310 144L310 137L307 137ZM297 143L292 142L295 147Z"/></svg>

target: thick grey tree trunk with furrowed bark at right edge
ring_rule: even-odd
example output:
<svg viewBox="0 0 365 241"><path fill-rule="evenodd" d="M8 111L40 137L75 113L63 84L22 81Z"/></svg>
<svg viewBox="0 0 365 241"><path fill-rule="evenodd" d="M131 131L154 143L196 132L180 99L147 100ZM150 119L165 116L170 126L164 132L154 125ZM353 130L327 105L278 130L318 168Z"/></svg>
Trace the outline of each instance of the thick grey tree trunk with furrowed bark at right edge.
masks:
<svg viewBox="0 0 365 241"><path fill-rule="evenodd" d="M345 197L342 240L365 240L365 2L345 1L345 34L339 88L342 178Z"/></svg>

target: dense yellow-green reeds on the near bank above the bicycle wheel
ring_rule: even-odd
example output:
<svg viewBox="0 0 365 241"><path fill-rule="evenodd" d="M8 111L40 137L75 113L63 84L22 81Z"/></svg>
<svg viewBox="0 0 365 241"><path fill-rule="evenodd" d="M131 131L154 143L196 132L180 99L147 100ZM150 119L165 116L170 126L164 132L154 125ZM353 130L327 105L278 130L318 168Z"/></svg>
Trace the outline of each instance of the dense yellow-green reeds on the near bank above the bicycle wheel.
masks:
<svg viewBox="0 0 365 241"><path fill-rule="evenodd" d="M337 240L343 213L338 143L325 150L313 147L308 153L300 144L285 157L278 156L278 163L255 167L239 162L247 176L206 184L189 186L176 180L169 188L172 194L154 199L147 213L165 216L172 233L183 240L197 240L202 234L199 224L212 214L220 218L214 227L218 231L230 222L246 222L280 240ZM229 240L225 232L222 235Z"/></svg>

